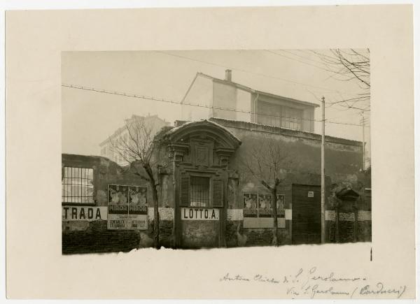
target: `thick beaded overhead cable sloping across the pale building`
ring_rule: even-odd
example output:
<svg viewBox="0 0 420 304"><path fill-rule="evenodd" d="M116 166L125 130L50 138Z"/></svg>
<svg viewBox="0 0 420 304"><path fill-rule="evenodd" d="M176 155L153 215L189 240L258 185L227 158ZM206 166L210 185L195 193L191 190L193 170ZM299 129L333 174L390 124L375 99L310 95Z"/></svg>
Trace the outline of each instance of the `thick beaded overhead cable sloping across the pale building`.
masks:
<svg viewBox="0 0 420 304"><path fill-rule="evenodd" d="M224 107L219 107L219 106L207 106L207 105L203 105L203 104L199 104L199 103L181 103L180 101L160 99L160 98L156 98L156 97L153 97L153 96L145 96L145 95L139 95L139 94L126 93L126 92L110 91L110 90L106 90L106 89L96 89L94 87L86 87L86 86L83 86L83 85L69 85L69 84L66 84L66 83L62 83L62 87L68 87L70 89L81 89L81 90L85 90L85 91L91 91L91 92L97 92L97 93L103 93L103 94L126 96L126 97L137 98L137 99L147 99L147 100L158 101L158 102L162 102L162 103L172 103L172 104L178 104L180 106L185 105L185 106L194 106L194 107L198 107L198 108L211 108L211 109L225 110L225 111L231 111L231 112L236 112L236 113L246 113L246 114L263 115L263 116L269 116L269 117L288 118L290 120L304 120L304 121L309 121L309 122L322 122L322 120L311 120L309 118L302 118L302 117L286 117L286 116L281 116L281 115L265 114L265 113L253 113L253 112L248 111L248 110L238 110L238 109L224 108ZM346 122L328 122L327 121L326 123L329 123L329 124L346 124L346 125L349 125L349 126L361 126L360 124L351 124L351 123L346 123Z"/></svg>

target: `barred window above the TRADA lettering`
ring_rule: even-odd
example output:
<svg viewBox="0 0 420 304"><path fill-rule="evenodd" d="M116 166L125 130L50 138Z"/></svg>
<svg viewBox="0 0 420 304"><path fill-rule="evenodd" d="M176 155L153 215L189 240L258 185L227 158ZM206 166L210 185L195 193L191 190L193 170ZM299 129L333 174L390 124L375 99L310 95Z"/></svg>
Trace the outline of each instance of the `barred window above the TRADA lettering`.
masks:
<svg viewBox="0 0 420 304"><path fill-rule="evenodd" d="M92 168L64 167L62 203L94 203Z"/></svg>

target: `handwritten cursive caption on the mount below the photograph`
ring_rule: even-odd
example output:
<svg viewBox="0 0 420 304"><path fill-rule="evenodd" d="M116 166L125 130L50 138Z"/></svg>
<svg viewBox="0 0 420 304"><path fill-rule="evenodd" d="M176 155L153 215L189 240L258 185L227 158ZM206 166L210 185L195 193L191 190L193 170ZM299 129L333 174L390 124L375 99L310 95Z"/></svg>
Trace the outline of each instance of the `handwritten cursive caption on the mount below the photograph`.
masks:
<svg viewBox="0 0 420 304"><path fill-rule="evenodd" d="M405 285L386 286L383 282L372 284L366 277L344 277L333 272L325 275L315 266L279 277L226 273L219 281L278 285L291 298L381 298L384 295L400 298L407 288Z"/></svg>

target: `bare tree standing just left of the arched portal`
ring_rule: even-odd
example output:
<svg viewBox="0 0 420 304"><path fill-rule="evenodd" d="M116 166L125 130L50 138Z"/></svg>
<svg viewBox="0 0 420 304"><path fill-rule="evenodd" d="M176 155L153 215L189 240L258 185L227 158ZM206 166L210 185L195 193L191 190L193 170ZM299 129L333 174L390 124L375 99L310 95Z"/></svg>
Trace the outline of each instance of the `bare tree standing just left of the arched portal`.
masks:
<svg viewBox="0 0 420 304"><path fill-rule="evenodd" d="M134 174L148 182L152 189L154 208L154 245L160 248L159 241L159 198L158 167L160 166L159 140L155 140L153 124L146 124L142 117L127 120L124 129L116 136L109 137L111 150L118 154L134 169Z"/></svg>

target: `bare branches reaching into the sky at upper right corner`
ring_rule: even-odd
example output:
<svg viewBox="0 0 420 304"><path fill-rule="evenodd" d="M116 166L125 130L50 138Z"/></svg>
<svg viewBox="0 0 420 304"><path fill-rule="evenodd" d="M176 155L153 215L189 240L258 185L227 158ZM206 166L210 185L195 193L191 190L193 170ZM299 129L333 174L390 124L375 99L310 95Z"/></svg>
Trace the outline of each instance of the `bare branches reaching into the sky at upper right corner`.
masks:
<svg viewBox="0 0 420 304"><path fill-rule="evenodd" d="M358 96L336 101L344 108L368 111L369 106L357 106L356 103L370 101L370 51L332 49L328 53L313 51L323 62L331 77L339 81L356 81L360 87Z"/></svg>

